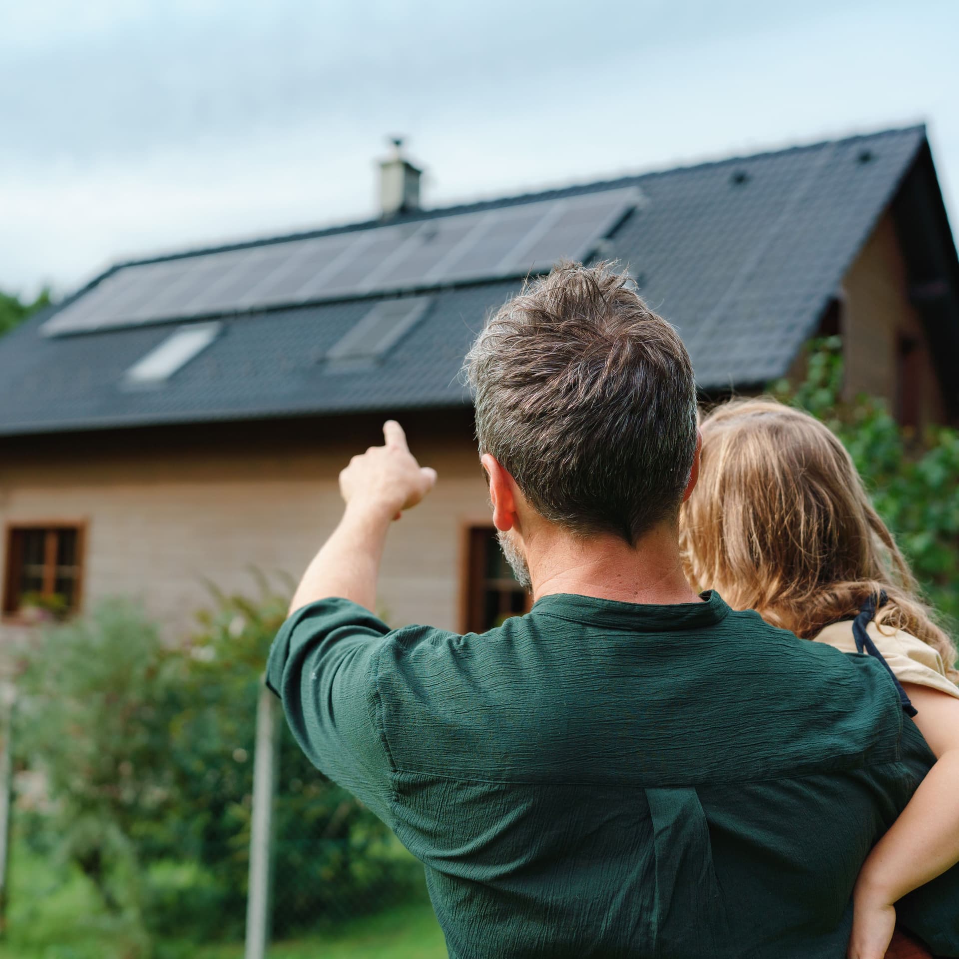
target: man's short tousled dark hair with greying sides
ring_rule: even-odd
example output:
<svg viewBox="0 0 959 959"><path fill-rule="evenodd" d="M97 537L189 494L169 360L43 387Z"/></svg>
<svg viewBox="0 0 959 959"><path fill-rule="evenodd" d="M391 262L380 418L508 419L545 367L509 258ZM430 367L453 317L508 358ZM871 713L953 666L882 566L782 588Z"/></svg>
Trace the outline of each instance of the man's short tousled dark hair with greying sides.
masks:
<svg viewBox="0 0 959 959"><path fill-rule="evenodd" d="M528 281L465 371L479 452L546 519L635 545L677 516L696 447L692 365L628 274L561 263Z"/></svg>

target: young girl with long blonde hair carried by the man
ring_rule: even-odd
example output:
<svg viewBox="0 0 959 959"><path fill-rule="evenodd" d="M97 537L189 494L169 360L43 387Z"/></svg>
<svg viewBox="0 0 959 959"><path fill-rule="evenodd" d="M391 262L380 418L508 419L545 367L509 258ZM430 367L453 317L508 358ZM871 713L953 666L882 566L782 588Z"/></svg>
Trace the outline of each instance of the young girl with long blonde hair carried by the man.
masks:
<svg viewBox="0 0 959 959"><path fill-rule="evenodd" d="M936 755L856 882L850 959L882 959L896 901L959 861L956 650L828 427L767 399L717 407L701 427L681 515L690 581L803 639L881 657Z"/></svg>

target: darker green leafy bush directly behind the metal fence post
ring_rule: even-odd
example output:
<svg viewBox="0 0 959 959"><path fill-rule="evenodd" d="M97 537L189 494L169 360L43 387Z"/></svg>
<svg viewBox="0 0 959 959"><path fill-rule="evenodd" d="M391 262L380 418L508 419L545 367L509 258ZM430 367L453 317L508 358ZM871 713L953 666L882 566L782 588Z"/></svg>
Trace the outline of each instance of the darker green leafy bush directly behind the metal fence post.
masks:
<svg viewBox="0 0 959 959"><path fill-rule="evenodd" d="M171 727L178 769L173 830L162 848L188 850L222 882L215 922L239 928L246 908L256 699L269 644L289 597L216 594L187 647L186 706ZM155 838L154 838L155 841ZM421 875L386 826L316 771L283 726L274 805L273 928L284 934L375 911ZM187 899L192 892L184 889ZM181 905L171 903L172 914Z"/></svg>

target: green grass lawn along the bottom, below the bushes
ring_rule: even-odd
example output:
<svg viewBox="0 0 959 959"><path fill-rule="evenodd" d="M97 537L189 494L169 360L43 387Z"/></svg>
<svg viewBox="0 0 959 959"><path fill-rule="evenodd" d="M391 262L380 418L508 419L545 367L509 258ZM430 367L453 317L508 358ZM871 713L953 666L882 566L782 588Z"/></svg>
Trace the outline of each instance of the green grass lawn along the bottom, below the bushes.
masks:
<svg viewBox="0 0 959 959"><path fill-rule="evenodd" d="M60 878L14 840L8 933L0 959L137 959L145 954L129 922L105 915L79 872ZM159 959L242 959L243 945L164 943ZM322 934L276 943L269 959L446 959L429 901L409 902Z"/></svg>

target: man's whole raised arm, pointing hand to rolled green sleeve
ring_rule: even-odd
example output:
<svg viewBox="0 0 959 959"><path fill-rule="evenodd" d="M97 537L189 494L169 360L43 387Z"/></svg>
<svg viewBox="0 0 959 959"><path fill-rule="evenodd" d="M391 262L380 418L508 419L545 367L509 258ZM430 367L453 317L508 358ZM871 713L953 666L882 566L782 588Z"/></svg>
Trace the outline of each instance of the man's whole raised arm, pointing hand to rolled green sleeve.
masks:
<svg viewBox="0 0 959 959"><path fill-rule="evenodd" d="M376 577L389 524L433 489L436 474L410 455L398 423L383 433L386 445L354 456L339 474L343 518L293 596L269 651L267 685L314 765L388 823L376 676L389 627L372 613Z"/></svg>

